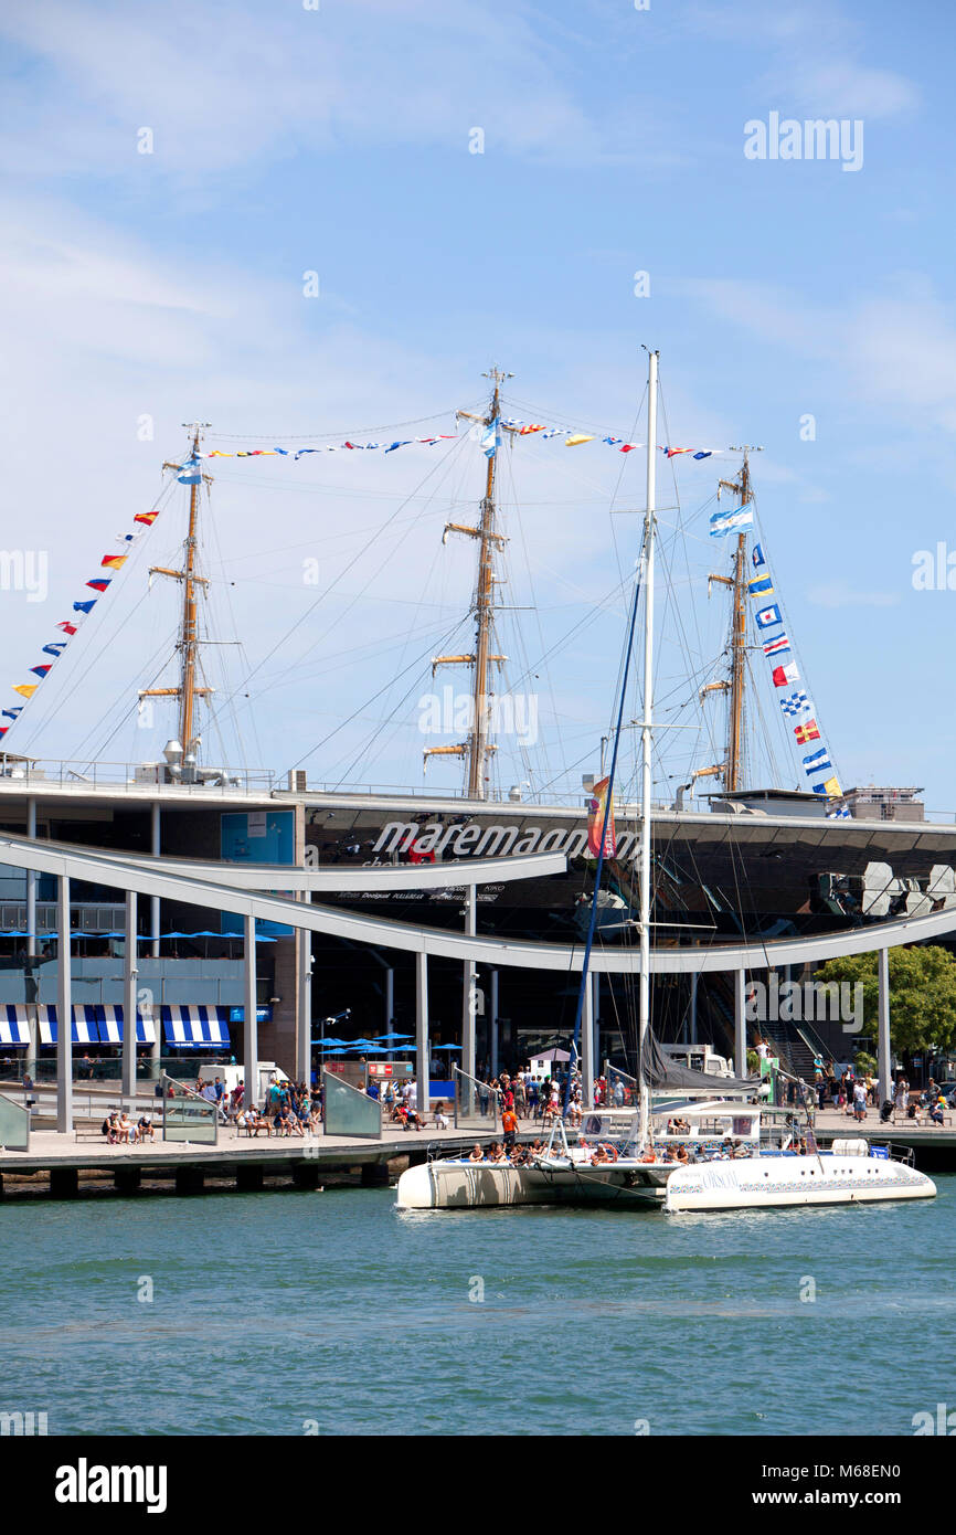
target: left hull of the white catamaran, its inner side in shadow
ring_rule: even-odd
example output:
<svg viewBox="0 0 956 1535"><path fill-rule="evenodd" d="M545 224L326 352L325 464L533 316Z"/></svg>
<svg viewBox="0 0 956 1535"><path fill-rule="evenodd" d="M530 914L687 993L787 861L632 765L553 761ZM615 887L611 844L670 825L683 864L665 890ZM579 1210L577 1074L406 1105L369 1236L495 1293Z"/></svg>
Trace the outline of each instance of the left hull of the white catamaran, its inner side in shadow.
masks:
<svg viewBox="0 0 956 1535"><path fill-rule="evenodd" d="M402 1173L399 1210L482 1210L511 1205L652 1205L664 1197L657 1167L525 1168L483 1162L428 1162Z"/></svg>

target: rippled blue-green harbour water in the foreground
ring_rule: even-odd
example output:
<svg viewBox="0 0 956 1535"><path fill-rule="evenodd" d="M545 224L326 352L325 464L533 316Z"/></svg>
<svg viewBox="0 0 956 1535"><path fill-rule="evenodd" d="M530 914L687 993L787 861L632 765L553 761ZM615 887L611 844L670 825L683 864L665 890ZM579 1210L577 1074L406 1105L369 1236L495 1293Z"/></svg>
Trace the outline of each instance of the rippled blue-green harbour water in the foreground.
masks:
<svg viewBox="0 0 956 1535"><path fill-rule="evenodd" d="M911 1434L956 1406L938 1187L678 1217L399 1216L387 1190L8 1203L0 1409L51 1434Z"/></svg>

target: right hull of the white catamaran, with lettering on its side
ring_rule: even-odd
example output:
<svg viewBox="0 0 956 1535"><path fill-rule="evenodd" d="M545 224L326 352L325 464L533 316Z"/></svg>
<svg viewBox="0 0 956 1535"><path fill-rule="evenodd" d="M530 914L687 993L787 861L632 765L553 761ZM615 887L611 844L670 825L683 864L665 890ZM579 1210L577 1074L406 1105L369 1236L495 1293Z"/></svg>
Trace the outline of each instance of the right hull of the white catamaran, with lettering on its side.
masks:
<svg viewBox="0 0 956 1535"><path fill-rule="evenodd" d="M668 1213L780 1210L793 1205L872 1205L933 1199L925 1173L872 1156L752 1157L675 1168L664 1193Z"/></svg>

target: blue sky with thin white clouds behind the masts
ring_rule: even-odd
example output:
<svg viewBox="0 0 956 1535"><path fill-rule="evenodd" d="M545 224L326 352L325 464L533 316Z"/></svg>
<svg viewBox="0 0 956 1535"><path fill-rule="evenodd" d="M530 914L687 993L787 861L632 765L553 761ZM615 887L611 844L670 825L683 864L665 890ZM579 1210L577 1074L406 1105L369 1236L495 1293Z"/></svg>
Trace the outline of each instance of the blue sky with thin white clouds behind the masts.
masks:
<svg viewBox="0 0 956 1535"><path fill-rule="evenodd" d="M494 365L520 419L643 442L654 347L660 442L763 450L760 536L844 786L918 784L956 817L954 38L925 0L6 8L2 542L48 569L0 589L11 685L163 507L9 749L134 763L175 734L137 689L175 682L176 589L147 566L184 536L163 473L184 422L210 424L206 450L454 433ZM819 117L855 135L842 158L744 152L747 124ZM471 643L474 548L442 545L483 484L463 425L388 456L209 460L207 761L459 786L448 758L422 780L424 746L460 738L425 732L422 700L468 688L430 668ZM598 766L640 459L502 453L503 686L537 711L523 749L502 738L505 792L580 794ZM661 746L661 798L720 749L697 688L723 675L706 576L729 548L706 520L738 462L658 468L657 691L691 726ZM921 551L942 589L915 588ZM764 672L750 774L796 784Z"/></svg>

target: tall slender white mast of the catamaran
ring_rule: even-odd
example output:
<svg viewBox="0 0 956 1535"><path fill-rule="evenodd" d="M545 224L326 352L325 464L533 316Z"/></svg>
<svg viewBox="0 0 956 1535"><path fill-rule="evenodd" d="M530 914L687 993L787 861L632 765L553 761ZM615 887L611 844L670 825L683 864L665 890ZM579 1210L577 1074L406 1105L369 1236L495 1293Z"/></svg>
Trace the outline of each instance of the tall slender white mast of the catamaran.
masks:
<svg viewBox="0 0 956 1535"><path fill-rule="evenodd" d="M648 1139L651 1093L644 1078L646 1041L651 1025L651 749L654 743L654 500L657 491L657 362L648 353L648 499L644 507L644 715L641 720L641 838L640 838L640 990L638 990L638 1082L640 1139Z"/></svg>

